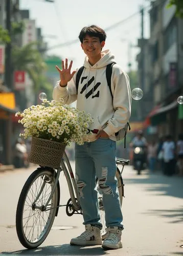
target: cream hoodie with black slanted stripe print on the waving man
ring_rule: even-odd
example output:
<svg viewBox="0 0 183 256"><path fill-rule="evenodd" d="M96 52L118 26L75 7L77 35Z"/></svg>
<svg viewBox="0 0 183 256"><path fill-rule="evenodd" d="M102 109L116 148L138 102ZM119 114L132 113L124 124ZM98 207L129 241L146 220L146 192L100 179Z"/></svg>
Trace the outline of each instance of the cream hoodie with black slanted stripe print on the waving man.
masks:
<svg viewBox="0 0 183 256"><path fill-rule="evenodd" d="M116 141L115 133L122 129L130 118L131 91L128 75L117 64L112 67L111 91L107 85L106 66L116 62L109 50L102 52L102 58L91 66L85 57L83 73L80 78L78 94L76 91L76 73L67 87L60 87L57 81L53 90L53 99L63 98L64 104L71 104L77 100L77 109L90 113L94 123L90 130L103 130L111 140ZM96 140L96 134L90 141Z"/></svg>

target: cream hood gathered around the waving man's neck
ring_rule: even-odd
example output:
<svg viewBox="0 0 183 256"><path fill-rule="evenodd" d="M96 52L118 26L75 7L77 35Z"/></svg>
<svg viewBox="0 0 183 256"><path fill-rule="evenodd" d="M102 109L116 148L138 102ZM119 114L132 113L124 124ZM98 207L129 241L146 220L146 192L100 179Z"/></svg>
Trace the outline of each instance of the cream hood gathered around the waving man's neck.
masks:
<svg viewBox="0 0 183 256"><path fill-rule="evenodd" d="M108 64L110 64L112 62L116 62L115 56L113 54L111 54L111 52L109 50L102 51L101 53L102 53L102 58L99 59L99 61L96 62L95 65L93 65L93 66L90 65L90 63L88 61L88 56L86 56L83 66L86 69L100 69L100 68L106 67Z"/></svg>

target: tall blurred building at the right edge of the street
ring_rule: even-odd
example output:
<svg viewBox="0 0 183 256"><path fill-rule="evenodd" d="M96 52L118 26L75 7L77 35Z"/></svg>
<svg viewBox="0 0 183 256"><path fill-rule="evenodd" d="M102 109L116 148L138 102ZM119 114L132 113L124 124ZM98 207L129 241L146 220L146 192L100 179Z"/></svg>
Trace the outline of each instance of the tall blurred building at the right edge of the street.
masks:
<svg viewBox="0 0 183 256"><path fill-rule="evenodd" d="M150 15L150 83L153 95L147 126L156 127L158 137L171 134L176 140L183 131L183 19L175 16L175 7L167 8L168 0L151 3ZM146 75L146 74L145 74Z"/></svg>

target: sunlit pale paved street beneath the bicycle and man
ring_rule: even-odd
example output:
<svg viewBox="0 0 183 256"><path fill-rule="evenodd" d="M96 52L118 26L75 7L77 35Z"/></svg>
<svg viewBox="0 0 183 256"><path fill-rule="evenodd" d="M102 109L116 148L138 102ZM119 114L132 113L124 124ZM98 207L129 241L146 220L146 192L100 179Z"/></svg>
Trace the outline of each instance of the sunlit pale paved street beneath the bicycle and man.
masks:
<svg viewBox="0 0 183 256"><path fill-rule="evenodd" d="M22 186L36 166L0 173L0 254L25 255L183 255L183 178L165 177L146 170L137 176L131 166L124 169L123 248L70 246L70 239L83 231L82 216L68 217L60 208L53 228L35 250L22 247L15 229L15 212ZM61 201L70 198L61 175Z"/></svg>

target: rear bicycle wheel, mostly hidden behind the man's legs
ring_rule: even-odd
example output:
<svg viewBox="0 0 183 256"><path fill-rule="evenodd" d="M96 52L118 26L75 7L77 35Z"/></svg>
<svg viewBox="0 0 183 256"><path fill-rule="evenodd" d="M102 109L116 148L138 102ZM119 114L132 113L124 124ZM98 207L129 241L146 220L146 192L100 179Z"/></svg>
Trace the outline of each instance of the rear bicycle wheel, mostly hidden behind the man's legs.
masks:
<svg viewBox="0 0 183 256"><path fill-rule="evenodd" d="M122 177L120 177L120 170L117 167L117 172L116 172L116 178L118 180L118 191L119 191L119 199L120 199L120 205L122 205L122 200L123 200L123 180ZM100 212L100 220L102 223L102 230L101 230L101 236L102 240L106 238L107 232L106 232L106 226L105 226L105 211L104 211L104 206L103 206L103 196L102 192L98 191L98 202L99 202L99 212Z"/></svg>

